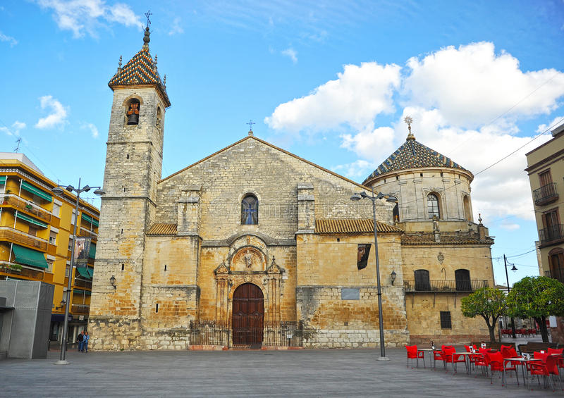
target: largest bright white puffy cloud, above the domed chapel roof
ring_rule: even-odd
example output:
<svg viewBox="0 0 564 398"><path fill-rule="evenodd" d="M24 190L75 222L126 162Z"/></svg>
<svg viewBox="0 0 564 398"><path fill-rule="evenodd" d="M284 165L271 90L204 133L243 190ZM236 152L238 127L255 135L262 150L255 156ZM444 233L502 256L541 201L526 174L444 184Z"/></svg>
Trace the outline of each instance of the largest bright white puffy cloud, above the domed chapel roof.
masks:
<svg viewBox="0 0 564 398"><path fill-rule="evenodd" d="M503 115L515 119L549 113L564 95L564 73L522 72L511 54L494 44L446 47L410 58L404 82L410 104L439 108L451 125L476 128Z"/></svg>

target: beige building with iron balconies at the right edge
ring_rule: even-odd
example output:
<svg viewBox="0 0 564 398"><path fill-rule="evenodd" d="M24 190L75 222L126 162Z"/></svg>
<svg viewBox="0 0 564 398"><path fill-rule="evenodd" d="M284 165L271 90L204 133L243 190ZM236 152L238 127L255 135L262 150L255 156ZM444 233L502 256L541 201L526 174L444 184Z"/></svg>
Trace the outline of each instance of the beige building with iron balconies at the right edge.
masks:
<svg viewBox="0 0 564 398"><path fill-rule="evenodd" d="M527 174L539 230L541 275L564 283L564 125L552 130L552 139L530 151ZM551 325L553 342L564 343L564 318Z"/></svg>

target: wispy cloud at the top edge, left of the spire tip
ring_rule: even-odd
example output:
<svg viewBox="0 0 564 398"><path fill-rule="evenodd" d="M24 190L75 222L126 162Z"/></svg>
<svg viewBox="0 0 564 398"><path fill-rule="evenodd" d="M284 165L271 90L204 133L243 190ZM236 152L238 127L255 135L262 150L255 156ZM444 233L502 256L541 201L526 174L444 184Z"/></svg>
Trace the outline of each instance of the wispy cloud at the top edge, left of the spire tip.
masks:
<svg viewBox="0 0 564 398"><path fill-rule="evenodd" d="M42 8L51 9L57 25L62 30L71 30L74 37L82 37L85 32L97 37L97 28L104 23L143 27L139 16L123 3L107 5L104 0L36 1Z"/></svg>

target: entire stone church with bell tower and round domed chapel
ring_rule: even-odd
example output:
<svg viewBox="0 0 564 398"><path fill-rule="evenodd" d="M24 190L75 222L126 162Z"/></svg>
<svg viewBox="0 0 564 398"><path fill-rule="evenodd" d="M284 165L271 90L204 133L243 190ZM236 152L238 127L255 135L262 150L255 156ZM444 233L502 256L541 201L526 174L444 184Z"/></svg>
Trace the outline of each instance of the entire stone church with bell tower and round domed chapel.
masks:
<svg viewBox="0 0 564 398"><path fill-rule="evenodd" d="M162 178L171 101L148 27L109 87L93 349L376 347L376 252L386 345L488 336L460 312L462 297L494 286L473 175L410 125L362 183L252 131Z"/></svg>

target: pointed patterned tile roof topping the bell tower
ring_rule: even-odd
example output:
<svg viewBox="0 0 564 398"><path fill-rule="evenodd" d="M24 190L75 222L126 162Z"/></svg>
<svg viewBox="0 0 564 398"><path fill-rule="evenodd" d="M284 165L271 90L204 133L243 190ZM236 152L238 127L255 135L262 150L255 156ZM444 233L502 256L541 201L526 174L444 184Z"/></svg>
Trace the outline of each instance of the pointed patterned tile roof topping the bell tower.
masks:
<svg viewBox="0 0 564 398"><path fill-rule="evenodd" d="M171 106L168 94L166 94L166 85L161 80L161 76L157 71L157 57L153 61L149 53L149 28L145 31L145 37L142 49L133 56L133 58L125 63L123 68L118 68L118 72L111 78L108 85L111 89L123 86L140 86L150 85L156 86L163 95L166 106ZM121 60L120 60L121 65Z"/></svg>

